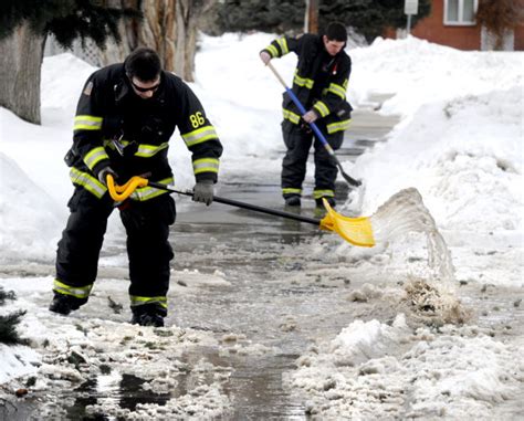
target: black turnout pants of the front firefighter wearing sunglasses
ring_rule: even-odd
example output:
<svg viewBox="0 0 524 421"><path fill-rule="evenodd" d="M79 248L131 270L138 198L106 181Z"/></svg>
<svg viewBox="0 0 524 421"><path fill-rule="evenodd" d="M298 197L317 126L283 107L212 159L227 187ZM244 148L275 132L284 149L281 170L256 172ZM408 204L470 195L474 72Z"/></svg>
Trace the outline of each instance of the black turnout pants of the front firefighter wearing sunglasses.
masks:
<svg viewBox="0 0 524 421"><path fill-rule="evenodd" d="M59 241L54 291L85 303L96 280L114 202L108 193L97 199L77 187L67 206L71 214ZM176 219L175 201L161 194L143 202L128 200L119 209L127 233L132 307L157 304L167 314L169 261L174 257L168 236Z"/></svg>

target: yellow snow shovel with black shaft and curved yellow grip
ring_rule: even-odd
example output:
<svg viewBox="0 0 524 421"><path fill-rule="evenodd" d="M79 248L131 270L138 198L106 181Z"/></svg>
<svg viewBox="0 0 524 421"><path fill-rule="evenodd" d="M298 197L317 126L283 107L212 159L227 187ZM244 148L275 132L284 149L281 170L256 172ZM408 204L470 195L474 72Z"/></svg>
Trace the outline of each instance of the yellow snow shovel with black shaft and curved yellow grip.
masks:
<svg viewBox="0 0 524 421"><path fill-rule="evenodd" d="M137 188L153 187L160 190L170 191L172 193L193 196L191 190L177 190L174 186L163 185L159 182L149 181L147 178L133 177L123 186L115 185L112 175L107 175L107 188L113 200L122 202L126 200ZM311 223L319 227L322 230L335 231L347 242L358 245L361 248L373 248L375 245L375 239L373 235L371 221L368 217L349 218L337 213L327 202L323 199L324 207L327 210L327 214L321 220L315 218L303 217L300 214L284 212L276 209L263 208L256 204L240 202L218 196L213 197L213 201L218 203L229 204L237 208L249 209L255 212L272 214L275 217L282 217L292 219L295 221Z"/></svg>

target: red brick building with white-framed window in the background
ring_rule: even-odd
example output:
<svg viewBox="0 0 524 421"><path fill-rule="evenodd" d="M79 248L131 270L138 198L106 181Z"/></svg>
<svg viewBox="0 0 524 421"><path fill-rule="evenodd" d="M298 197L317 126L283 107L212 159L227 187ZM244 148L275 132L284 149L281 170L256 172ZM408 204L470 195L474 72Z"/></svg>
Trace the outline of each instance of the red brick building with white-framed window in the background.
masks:
<svg viewBox="0 0 524 421"><path fill-rule="evenodd" d="M483 0L480 0L483 1ZM491 1L491 8L502 7L502 0ZM514 29L503 32L501 39L479 22L479 0L432 0L431 13L420 20L411 35L459 50L524 51L524 1L511 0L516 10ZM406 31L389 30L386 38L401 38Z"/></svg>

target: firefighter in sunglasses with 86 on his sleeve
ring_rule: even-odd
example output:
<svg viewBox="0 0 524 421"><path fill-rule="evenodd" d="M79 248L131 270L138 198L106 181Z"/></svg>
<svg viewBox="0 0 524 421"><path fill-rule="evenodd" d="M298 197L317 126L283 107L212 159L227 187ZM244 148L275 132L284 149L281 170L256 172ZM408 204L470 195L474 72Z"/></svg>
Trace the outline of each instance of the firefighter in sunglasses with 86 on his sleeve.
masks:
<svg viewBox="0 0 524 421"><path fill-rule="evenodd" d="M222 146L192 91L163 71L157 53L145 48L124 63L90 76L76 109L73 147L65 159L75 190L59 242L50 311L69 314L87 302L107 218L117 207L127 233L132 323L164 325L175 201L164 190L144 187L115 203L106 178L111 173L123 185L133 176L143 176L174 185L168 147L176 127L192 152L193 200L210 204Z"/></svg>

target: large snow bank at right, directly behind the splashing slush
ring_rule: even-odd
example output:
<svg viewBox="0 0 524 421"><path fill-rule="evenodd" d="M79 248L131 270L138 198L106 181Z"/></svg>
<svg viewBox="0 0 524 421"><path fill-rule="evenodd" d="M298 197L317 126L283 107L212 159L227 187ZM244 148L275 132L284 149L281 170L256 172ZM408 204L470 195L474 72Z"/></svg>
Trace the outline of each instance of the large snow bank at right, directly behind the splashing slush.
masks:
<svg viewBox="0 0 524 421"><path fill-rule="evenodd" d="M422 105L387 144L358 159L367 210L416 187L443 229L521 232L522 101L515 86Z"/></svg>

